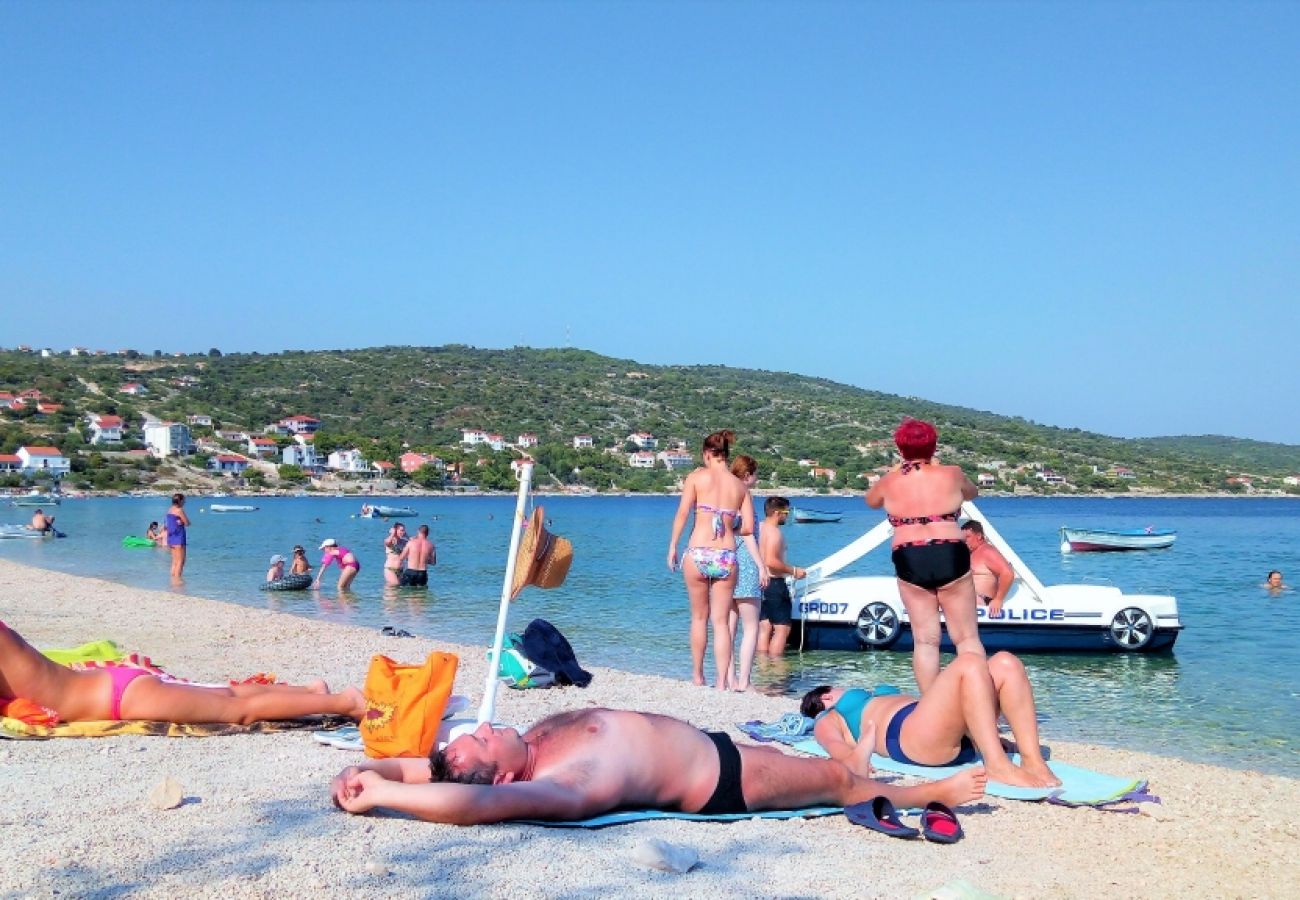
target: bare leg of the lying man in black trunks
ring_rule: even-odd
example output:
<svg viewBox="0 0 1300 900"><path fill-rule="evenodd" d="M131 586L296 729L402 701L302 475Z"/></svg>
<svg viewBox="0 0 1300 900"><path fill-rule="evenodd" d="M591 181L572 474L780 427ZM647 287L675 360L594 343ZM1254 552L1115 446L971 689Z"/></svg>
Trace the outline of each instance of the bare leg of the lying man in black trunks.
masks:
<svg viewBox="0 0 1300 900"><path fill-rule="evenodd" d="M786 756L771 747L737 744L741 754L741 788L750 810L849 806L872 797L888 797L900 809L939 801L948 806L979 800L988 780L979 766L963 769L939 782L915 786L887 784L859 769L835 760Z"/></svg>

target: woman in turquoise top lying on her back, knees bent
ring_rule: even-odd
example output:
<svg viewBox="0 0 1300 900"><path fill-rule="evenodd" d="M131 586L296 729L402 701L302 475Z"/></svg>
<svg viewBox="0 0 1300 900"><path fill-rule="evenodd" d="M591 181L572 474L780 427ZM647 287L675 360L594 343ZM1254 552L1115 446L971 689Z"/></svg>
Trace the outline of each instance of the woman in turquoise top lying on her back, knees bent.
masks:
<svg viewBox="0 0 1300 900"><path fill-rule="evenodd" d="M1020 787L1061 783L1039 748L1034 688L1024 665L1010 653L991 659L959 653L922 697L880 685L875 692L823 684L803 696L803 715L816 718L812 735L832 760L844 760L859 741L897 762L959 766L983 757L991 782ZM997 734L1006 717L1020 765L1006 756Z"/></svg>

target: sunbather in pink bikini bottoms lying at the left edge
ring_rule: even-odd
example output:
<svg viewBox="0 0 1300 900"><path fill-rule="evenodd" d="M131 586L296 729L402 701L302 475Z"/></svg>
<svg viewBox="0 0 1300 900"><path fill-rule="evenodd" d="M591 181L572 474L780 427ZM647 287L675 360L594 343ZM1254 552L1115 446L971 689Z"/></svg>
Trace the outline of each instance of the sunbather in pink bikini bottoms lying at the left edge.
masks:
<svg viewBox="0 0 1300 900"><path fill-rule="evenodd" d="M0 622L0 697L22 697L52 709L64 722L225 722L250 724L334 713L360 718L365 698L356 688L329 693L324 682L235 684L209 688L164 682L127 666L74 671L46 658Z"/></svg>

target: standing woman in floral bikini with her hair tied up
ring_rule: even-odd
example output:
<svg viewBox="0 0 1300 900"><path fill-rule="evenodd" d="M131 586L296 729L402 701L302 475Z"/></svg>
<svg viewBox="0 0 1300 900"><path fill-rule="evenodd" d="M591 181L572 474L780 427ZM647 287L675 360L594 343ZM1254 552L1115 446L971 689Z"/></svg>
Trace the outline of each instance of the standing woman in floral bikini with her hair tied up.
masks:
<svg viewBox="0 0 1300 900"><path fill-rule="evenodd" d="M712 619L719 691L731 685L732 642L727 619L736 588L736 536L754 531L754 502L745 483L727 467L734 441L736 433L731 430L714 432L705 438L705 464L686 476L668 540L668 568L675 572L679 568L677 542L686 518L694 511L686 559L680 564L690 601L692 676L696 684L705 684L705 650Z"/></svg>

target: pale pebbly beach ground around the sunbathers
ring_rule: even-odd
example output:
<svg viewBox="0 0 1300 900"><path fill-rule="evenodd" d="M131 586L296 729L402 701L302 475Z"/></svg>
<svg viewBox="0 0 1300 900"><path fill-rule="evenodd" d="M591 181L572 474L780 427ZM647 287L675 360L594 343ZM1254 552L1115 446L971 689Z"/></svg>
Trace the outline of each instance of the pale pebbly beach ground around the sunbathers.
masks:
<svg viewBox="0 0 1300 900"><path fill-rule="evenodd" d="M525 597L512 624L526 616ZM338 687L360 683L373 653L419 661L436 648L460 654L456 689L476 702L485 675L481 646L4 561L0 619L38 646L109 637L200 680L274 671ZM729 728L793 708L789 698L593 672L586 689L502 689L498 718L524 726L604 705ZM1008 897L1300 893L1300 782L1044 739L1054 758L1149 778L1164 804L1126 815L989 797L959 810L967 836L952 847L890 839L844 817L462 828L334 809L329 779L360 754L306 734L0 741L0 897L916 897L957 896L937 892L954 883ZM148 793L164 776L179 782L186 802L160 812ZM693 848L699 865L685 874L638 866L634 852L649 839Z"/></svg>

